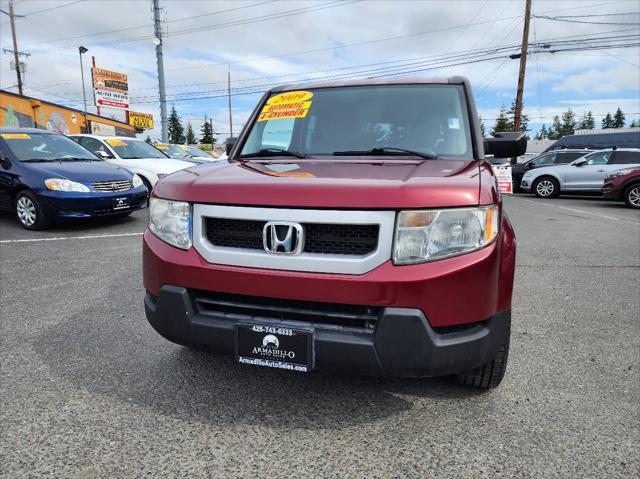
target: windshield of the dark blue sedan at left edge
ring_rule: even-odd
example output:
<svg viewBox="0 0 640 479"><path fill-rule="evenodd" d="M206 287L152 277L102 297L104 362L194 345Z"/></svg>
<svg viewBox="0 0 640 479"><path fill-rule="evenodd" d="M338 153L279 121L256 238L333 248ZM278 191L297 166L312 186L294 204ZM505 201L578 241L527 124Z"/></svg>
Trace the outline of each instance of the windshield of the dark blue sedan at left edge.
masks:
<svg viewBox="0 0 640 479"><path fill-rule="evenodd" d="M2 133L19 161L102 161L63 135L50 133Z"/></svg>

